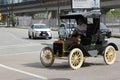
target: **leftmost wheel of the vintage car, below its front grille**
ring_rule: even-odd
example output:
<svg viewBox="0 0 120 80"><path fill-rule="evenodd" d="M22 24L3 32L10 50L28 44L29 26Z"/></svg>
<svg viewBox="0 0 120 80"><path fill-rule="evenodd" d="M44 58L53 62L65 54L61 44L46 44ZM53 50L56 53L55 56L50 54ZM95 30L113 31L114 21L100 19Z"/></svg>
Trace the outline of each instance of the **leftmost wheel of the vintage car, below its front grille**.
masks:
<svg viewBox="0 0 120 80"><path fill-rule="evenodd" d="M40 61L45 67L50 67L54 62L53 50L45 47L40 53Z"/></svg>

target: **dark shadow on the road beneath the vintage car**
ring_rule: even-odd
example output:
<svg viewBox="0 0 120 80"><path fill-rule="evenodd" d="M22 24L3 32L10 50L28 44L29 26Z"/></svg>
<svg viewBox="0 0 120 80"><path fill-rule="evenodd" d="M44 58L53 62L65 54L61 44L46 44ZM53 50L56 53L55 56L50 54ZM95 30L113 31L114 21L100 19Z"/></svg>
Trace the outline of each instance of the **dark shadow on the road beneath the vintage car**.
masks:
<svg viewBox="0 0 120 80"><path fill-rule="evenodd" d="M62 62L62 63L53 63L51 67L44 67L40 62L36 63L28 63L28 64L22 64L25 67L33 67L33 68L42 68L42 69L49 69L49 70L72 70L68 64L68 62ZM91 67L91 66L103 66L106 65L104 63L83 63L81 68L85 67Z"/></svg>

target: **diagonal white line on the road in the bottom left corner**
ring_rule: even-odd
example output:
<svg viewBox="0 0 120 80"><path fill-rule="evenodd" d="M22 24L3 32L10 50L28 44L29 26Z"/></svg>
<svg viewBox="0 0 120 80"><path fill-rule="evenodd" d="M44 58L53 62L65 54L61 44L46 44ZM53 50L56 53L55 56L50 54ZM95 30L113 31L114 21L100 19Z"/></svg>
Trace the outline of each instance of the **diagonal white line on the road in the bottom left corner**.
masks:
<svg viewBox="0 0 120 80"><path fill-rule="evenodd" d="M16 71L16 72L19 72L19 73L22 73L22 74L26 74L26 75L29 75L29 76L33 76L33 77L36 77L36 78L39 78L39 79L48 80L46 77L39 76L39 75L29 73L29 72L25 72L25 71L22 71L22 70L19 70L19 69L15 69L15 68L3 65L3 64L0 64L0 67L8 69L8 70Z"/></svg>

